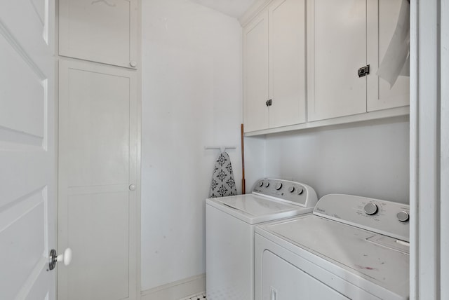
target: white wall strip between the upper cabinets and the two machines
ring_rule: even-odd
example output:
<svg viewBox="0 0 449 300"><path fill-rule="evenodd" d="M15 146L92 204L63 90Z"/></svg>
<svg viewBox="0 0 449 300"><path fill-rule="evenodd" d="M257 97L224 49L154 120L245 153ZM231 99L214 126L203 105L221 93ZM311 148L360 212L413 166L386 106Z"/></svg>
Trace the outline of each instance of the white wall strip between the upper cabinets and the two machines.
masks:
<svg viewBox="0 0 449 300"><path fill-rule="evenodd" d="M304 182L319 197L348 193L409 203L408 132L404 116L269 135L266 161L247 160L246 168L261 162L265 176ZM256 144L251 139L246 143ZM247 173L247 189L258 177Z"/></svg>

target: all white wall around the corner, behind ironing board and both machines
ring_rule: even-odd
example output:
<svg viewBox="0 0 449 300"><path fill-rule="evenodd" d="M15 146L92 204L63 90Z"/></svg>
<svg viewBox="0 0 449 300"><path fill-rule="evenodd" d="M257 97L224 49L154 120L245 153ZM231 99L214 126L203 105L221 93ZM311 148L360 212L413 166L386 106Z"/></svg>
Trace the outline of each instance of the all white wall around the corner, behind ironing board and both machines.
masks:
<svg viewBox="0 0 449 300"><path fill-rule="evenodd" d="M142 1L142 290L204 273L204 199L218 151L241 191L241 27L189 0ZM246 189L293 179L319 196L408 203L408 118L248 137Z"/></svg>

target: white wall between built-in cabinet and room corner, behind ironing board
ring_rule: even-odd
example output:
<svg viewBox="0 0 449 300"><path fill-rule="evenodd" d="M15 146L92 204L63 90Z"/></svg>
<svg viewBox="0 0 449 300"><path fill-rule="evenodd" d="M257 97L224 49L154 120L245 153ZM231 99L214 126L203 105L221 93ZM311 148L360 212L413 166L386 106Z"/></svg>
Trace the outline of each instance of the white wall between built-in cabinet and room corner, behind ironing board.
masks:
<svg viewBox="0 0 449 300"><path fill-rule="evenodd" d="M241 26L188 0L142 1L142 290L205 272L219 151L241 191Z"/></svg>

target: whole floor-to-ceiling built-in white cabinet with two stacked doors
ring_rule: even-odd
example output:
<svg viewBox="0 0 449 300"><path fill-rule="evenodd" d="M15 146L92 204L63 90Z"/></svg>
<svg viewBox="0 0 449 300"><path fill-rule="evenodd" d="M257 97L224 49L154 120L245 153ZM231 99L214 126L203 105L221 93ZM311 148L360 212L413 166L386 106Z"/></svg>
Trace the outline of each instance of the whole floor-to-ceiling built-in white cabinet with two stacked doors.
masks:
<svg viewBox="0 0 449 300"><path fill-rule="evenodd" d="M58 299L140 297L138 0L59 0Z"/></svg>

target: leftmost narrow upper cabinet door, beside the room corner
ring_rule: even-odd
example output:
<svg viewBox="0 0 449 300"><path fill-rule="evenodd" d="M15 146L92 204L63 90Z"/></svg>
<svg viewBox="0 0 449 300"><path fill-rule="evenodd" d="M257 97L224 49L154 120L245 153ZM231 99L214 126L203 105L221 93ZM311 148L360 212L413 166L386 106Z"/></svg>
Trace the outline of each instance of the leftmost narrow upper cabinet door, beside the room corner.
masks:
<svg viewBox="0 0 449 300"><path fill-rule="evenodd" d="M245 131L268 128L268 12L243 29Z"/></svg>

